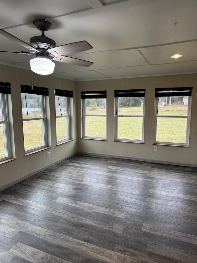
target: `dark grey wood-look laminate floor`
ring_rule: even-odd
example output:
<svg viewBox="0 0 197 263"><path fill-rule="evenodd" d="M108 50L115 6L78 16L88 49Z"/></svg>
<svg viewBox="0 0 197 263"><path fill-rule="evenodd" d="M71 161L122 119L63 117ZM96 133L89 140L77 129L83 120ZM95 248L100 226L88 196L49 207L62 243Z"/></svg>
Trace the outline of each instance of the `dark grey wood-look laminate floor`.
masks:
<svg viewBox="0 0 197 263"><path fill-rule="evenodd" d="M75 155L0 192L0 262L196 263L196 171Z"/></svg>

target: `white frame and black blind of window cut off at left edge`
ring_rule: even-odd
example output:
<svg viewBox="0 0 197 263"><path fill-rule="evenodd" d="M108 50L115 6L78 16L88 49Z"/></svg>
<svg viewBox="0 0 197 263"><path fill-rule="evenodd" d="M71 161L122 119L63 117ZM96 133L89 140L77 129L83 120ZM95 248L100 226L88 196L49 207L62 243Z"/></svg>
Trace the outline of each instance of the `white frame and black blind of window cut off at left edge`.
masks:
<svg viewBox="0 0 197 263"><path fill-rule="evenodd" d="M2 105L2 120L0 120L0 124L2 124L3 127L3 140L4 140L4 151L5 151L5 156L0 157L0 162L11 158L8 94L11 94L10 83L0 82L0 100Z"/></svg>

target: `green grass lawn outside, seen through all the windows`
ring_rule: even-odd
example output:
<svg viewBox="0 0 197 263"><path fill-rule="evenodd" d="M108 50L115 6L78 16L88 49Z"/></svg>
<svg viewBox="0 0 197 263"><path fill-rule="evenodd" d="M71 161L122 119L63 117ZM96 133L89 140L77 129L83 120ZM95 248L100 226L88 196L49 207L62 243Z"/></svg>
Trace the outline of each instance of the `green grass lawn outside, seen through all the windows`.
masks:
<svg viewBox="0 0 197 263"><path fill-rule="evenodd" d="M142 115L143 107L121 108L119 115ZM86 110L86 114L106 115L106 109ZM158 115L187 115L187 106L171 105L158 109ZM57 140L67 137L66 118L57 118ZM107 119L107 121L113 121ZM158 118L157 141L182 142L186 140L187 120ZM42 121L23 121L25 149L42 145ZM119 138L142 139L141 117L119 117ZM105 137L105 117L86 117L86 136ZM0 157L5 156L3 129L0 126Z"/></svg>

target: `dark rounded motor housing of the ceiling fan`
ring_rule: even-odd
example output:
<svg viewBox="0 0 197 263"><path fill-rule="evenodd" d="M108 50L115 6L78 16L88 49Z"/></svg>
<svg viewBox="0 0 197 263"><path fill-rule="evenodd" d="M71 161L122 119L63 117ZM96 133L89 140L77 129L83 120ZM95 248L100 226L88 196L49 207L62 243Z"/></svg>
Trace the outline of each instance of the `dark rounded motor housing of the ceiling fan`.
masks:
<svg viewBox="0 0 197 263"><path fill-rule="evenodd" d="M30 46L36 49L45 48L49 49L56 46L56 43L53 39L50 39L46 36L33 36L30 38Z"/></svg>

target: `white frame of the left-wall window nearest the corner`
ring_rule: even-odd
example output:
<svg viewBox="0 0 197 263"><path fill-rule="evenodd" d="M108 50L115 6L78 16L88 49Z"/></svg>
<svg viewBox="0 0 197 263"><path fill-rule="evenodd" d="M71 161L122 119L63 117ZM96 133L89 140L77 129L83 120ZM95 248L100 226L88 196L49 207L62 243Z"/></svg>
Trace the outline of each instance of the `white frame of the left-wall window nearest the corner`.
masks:
<svg viewBox="0 0 197 263"><path fill-rule="evenodd" d="M66 115L56 116L56 112L55 112L55 121L56 121L57 118L64 118L64 117L66 117L66 123L67 123L67 125L66 125L67 131L66 132L67 132L68 137L64 138L64 139L61 139L61 140L57 140L57 126L55 125L55 127L56 127L56 143L58 145L58 144L61 144L62 142L66 142L66 141L71 139L71 136L70 136L70 97L57 95L56 92L55 92L55 96L57 96L57 97L61 96L61 97L65 97L66 98L66 113L67 113Z"/></svg>

